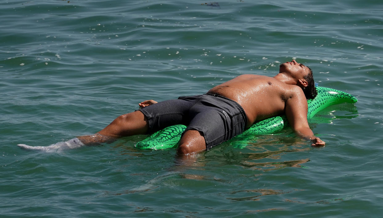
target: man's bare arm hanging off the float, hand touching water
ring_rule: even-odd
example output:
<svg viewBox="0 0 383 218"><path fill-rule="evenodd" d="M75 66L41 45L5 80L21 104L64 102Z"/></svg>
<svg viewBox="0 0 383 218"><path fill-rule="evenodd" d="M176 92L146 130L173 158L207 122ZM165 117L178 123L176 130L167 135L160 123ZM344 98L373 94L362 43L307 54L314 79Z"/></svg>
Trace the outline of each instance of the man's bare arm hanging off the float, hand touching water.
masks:
<svg viewBox="0 0 383 218"><path fill-rule="evenodd" d="M307 122L307 100L300 87L292 90L291 98L286 101L285 113L291 128L295 133L306 140L310 140L312 146L324 146L326 143L314 136Z"/></svg>

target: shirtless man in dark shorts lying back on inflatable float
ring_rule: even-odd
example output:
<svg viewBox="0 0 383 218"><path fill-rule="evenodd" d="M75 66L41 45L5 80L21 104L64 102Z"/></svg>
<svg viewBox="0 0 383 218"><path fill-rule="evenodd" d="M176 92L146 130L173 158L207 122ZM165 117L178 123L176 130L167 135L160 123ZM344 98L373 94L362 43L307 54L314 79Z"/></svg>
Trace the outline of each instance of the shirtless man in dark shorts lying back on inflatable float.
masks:
<svg viewBox="0 0 383 218"><path fill-rule="evenodd" d="M146 100L140 110L121 115L97 134L79 136L47 147L18 146L31 150L57 150L92 146L119 137L150 134L174 124L185 124L177 152L201 152L241 134L253 123L285 114L291 128L312 146L323 146L307 123L307 101L316 96L313 73L295 60L280 65L273 78L245 74L210 89L206 94L157 103Z"/></svg>

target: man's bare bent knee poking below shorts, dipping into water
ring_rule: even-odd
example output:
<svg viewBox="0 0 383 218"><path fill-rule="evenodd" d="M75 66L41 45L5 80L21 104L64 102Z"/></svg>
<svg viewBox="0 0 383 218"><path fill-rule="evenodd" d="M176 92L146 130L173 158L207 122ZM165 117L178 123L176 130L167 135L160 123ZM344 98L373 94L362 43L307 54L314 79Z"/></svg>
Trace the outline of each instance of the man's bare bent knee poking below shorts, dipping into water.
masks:
<svg viewBox="0 0 383 218"><path fill-rule="evenodd" d="M206 142L202 132L196 129L189 129L183 133L178 143L177 153L185 155L193 152L202 152L204 150L206 150Z"/></svg>

